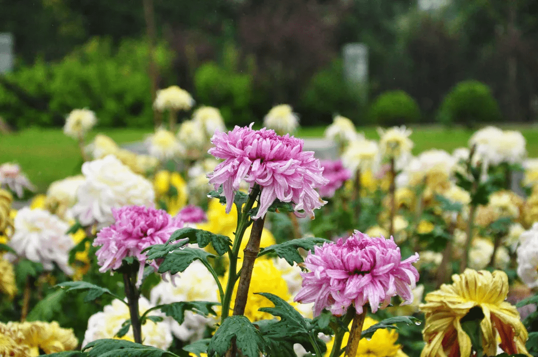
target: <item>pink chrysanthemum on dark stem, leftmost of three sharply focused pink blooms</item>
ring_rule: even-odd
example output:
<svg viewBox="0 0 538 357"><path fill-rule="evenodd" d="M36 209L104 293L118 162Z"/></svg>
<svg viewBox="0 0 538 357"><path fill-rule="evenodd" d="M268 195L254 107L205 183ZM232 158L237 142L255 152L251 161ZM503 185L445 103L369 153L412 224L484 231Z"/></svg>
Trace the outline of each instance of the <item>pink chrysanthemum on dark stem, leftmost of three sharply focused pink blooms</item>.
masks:
<svg viewBox="0 0 538 357"><path fill-rule="evenodd" d="M140 262L137 285L142 282L146 264L145 248L154 244L164 244L172 233L183 227L180 219L172 218L166 211L144 206L123 206L113 208L115 223L97 233L93 245L101 246L96 252L101 273L118 269L123 258L134 256ZM150 263L158 269L155 261Z"/></svg>

